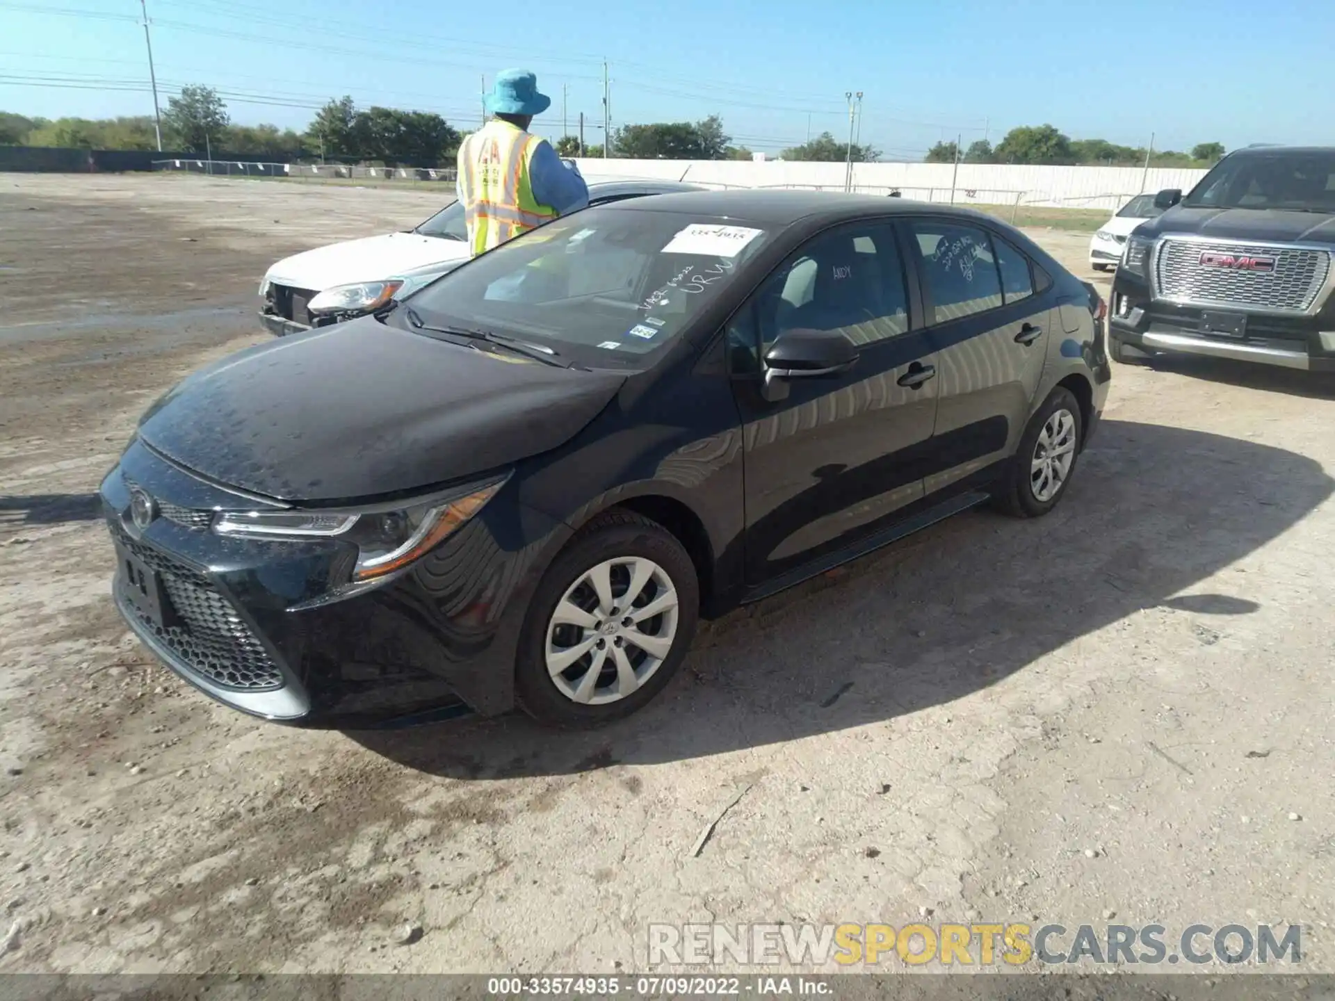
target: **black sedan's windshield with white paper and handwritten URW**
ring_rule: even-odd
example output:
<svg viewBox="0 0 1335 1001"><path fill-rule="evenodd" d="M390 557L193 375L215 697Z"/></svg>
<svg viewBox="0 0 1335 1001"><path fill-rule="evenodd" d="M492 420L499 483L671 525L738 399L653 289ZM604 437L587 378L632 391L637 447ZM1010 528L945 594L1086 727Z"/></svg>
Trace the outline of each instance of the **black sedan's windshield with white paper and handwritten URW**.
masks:
<svg viewBox="0 0 1335 1001"><path fill-rule="evenodd" d="M427 327L550 342L583 363L623 367L680 334L768 238L734 219L594 207L475 258L409 302Z"/></svg>

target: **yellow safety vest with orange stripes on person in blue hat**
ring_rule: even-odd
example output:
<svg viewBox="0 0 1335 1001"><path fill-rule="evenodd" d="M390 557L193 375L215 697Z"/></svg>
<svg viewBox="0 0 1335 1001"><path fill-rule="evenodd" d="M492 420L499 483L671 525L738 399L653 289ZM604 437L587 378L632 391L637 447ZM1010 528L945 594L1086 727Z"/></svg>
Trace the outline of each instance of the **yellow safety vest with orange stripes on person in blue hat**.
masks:
<svg viewBox="0 0 1335 1001"><path fill-rule="evenodd" d="M533 196L529 164L543 140L491 120L459 147L459 180L469 251L475 258L559 214Z"/></svg>

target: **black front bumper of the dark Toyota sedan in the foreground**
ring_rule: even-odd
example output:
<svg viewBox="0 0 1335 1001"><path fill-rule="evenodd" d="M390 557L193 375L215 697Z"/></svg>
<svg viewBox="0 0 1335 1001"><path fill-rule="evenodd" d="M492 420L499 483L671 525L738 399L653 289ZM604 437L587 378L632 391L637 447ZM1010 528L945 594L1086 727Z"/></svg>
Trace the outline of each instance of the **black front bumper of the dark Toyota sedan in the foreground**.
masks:
<svg viewBox="0 0 1335 1001"><path fill-rule="evenodd" d="M131 484L160 511L142 530ZM101 484L112 539L132 561L119 562L116 606L172 671L251 715L367 727L503 713L529 599L570 534L506 492L398 577L318 603L347 579L344 543L219 537L191 514L255 502L135 442ZM131 601L134 567L151 571L160 613Z"/></svg>

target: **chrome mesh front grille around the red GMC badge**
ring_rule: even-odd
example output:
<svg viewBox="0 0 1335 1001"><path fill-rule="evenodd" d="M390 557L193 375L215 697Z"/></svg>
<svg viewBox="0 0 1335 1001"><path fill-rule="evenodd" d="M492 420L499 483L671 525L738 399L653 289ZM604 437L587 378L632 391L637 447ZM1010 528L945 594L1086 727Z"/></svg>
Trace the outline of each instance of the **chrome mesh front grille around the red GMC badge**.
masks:
<svg viewBox="0 0 1335 1001"><path fill-rule="evenodd" d="M1272 271L1203 267L1203 254L1274 258ZM1331 271L1327 251L1164 238L1155 279L1159 295L1192 306L1307 312Z"/></svg>

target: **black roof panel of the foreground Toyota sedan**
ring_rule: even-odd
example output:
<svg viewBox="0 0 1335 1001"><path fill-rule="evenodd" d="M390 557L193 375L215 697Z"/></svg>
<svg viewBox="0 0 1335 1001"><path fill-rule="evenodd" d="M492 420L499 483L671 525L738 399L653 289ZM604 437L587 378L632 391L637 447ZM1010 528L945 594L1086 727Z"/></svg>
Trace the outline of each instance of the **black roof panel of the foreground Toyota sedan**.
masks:
<svg viewBox="0 0 1335 1001"><path fill-rule="evenodd" d="M866 216L897 215L956 215L961 219L981 219L991 223L993 216L971 208L947 206L939 202L913 202L877 195L850 195L842 191L794 191L780 188L732 188L728 191L694 191L681 195L662 195L651 203L615 202L606 208L615 211L678 212L681 215L733 216L768 226L786 226L798 219L821 216L830 222L865 219Z"/></svg>

